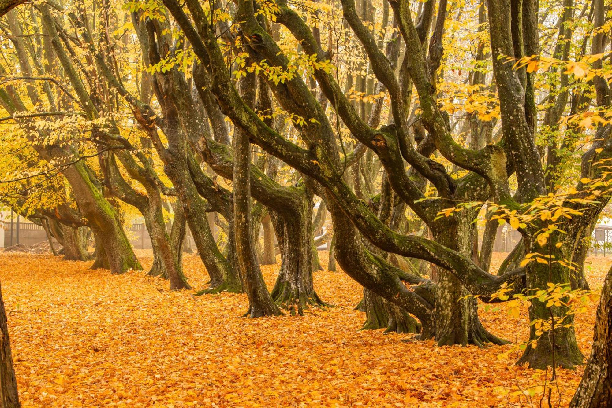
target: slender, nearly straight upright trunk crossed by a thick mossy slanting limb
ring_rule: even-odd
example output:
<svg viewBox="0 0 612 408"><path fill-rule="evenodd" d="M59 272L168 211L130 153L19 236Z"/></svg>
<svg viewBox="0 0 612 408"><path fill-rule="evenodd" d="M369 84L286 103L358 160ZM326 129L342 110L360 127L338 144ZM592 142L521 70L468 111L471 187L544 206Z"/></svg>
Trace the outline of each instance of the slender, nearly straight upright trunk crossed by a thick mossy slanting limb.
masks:
<svg viewBox="0 0 612 408"><path fill-rule="evenodd" d="M255 75L247 74L241 81L243 95L255 102ZM236 255L240 264L242 282L248 296L248 311L244 316L278 316L280 310L272 300L251 241L250 143L248 134L237 129L234 134L234 236Z"/></svg>

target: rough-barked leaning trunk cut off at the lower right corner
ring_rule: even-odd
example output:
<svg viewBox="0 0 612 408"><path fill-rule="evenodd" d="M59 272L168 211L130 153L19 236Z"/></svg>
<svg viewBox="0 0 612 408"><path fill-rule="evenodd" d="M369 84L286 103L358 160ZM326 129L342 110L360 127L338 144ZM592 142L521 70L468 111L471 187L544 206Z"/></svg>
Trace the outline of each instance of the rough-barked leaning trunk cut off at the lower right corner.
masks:
<svg viewBox="0 0 612 408"><path fill-rule="evenodd" d="M591 357L570 408L612 407L612 268L603 282Z"/></svg>

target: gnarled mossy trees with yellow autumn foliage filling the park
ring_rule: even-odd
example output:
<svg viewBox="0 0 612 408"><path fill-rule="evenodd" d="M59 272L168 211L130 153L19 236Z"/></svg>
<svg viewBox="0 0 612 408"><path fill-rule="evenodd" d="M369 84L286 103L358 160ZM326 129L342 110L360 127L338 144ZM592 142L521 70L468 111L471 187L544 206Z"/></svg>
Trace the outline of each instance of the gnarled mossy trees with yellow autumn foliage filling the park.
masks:
<svg viewBox="0 0 612 408"><path fill-rule="evenodd" d="M90 257L91 230L94 268L114 273L141 269L121 219L135 208L149 274L172 289L190 288L188 227L211 278L200 293L244 291L250 317L326 305L313 237L329 211L330 260L364 286L364 328L502 344L476 297L588 289L609 200L609 12L604 0L24 5L0 24L2 201L67 257ZM522 239L491 273L504 223ZM259 264L274 236L270 292ZM574 406L610 401L609 283ZM570 302L529 299L518 363L583 363Z"/></svg>

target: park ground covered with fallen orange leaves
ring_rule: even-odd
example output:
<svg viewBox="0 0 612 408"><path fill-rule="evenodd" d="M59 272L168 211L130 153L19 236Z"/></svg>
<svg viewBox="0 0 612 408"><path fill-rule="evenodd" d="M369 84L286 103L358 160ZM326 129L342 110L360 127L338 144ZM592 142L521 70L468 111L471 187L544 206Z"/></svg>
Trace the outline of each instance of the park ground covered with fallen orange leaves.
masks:
<svg viewBox="0 0 612 408"><path fill-rule="evenodd" d="M319 254L327 264L327 253ZM151 252L138 255L150 266ZM494 254L494 267L503 257ZM589 258L593 289L611 262ZM199 258L186 255L184 264L193 288L204 288ZM111 275L89 266L0 254L24 407L540 406L545 373L515 366L510 345L438 347L403 341L412 335L357 331L365 315L353 308L362 292L342 272L314 274L319 296L335 307L245 319L244 294L194 297L143 272ZM278 264L262 269L272 288ZM587 357L596 307L577 316ZM480 318L514 343L528 336L525 310L513 318L502 304L481 308ZM554 406L567 406L582 372L558 370Z"/></svg>

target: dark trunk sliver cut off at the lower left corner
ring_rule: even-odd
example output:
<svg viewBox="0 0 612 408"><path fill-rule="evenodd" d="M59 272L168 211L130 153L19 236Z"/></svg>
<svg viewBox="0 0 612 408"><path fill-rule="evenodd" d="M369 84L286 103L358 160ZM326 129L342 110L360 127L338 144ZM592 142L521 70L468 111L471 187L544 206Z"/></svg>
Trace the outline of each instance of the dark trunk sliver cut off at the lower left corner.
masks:
<svg viewBox="0 0 612 408"><path fill-rule="evenodd" d="M2 330L2 344L0 344L0 407L20 407L19 395L17 393L17 379L13 369L13 356L10 352L9 328L6 323L6 311L2 300L2 288L0 287L0 330Z"/></svg>

